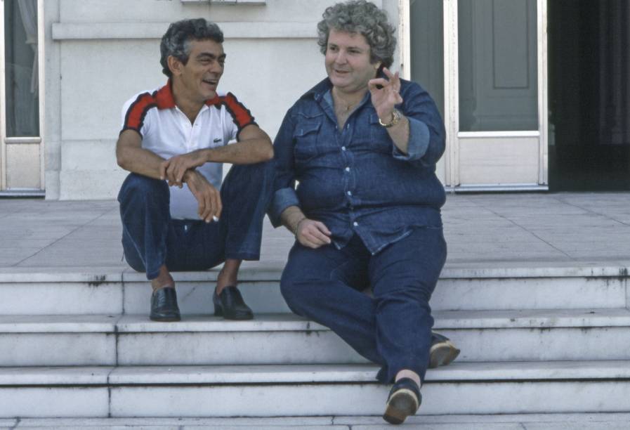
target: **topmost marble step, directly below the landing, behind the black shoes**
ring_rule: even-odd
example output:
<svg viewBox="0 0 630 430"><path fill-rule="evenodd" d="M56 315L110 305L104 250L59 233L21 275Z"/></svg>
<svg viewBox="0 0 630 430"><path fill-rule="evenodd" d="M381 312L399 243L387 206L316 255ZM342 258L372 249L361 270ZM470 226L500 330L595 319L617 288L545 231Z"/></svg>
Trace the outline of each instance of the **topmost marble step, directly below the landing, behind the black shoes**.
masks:
<svg viewBox="0 0 630 430"><path fill-rule="evenodd" d="M183 313L208 313L218 270L173 276ZM244 264L240 288L256 313L288 312L278 282L282 266ZM479 268L447 266L431 299L436 311L625 308L625 266ZM131 269L81 271L2 268L0 315L147 313L150 287Z"/></svg>

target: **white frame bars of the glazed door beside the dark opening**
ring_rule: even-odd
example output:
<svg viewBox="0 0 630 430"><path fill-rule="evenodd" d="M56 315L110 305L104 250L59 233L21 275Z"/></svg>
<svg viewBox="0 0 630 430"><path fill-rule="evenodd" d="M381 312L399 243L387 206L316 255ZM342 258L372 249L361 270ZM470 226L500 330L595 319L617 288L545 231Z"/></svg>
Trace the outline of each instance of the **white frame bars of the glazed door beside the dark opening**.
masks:
<svg viewBox="0 0 630 430"><path fill-rule="evenodd" d="M537 0L537 74L538 74L538 130L537 131L459 131L459 39L458 0L442 0L444 13L444 121L447 132L445 187L456 192L548 190L548 73L547 73L547 0ZM411 22L410 5L399 0L399 28L401 74L411 78ZM460 141L466 138L537 138L538 181L525 184L461 185Z"/></svg>

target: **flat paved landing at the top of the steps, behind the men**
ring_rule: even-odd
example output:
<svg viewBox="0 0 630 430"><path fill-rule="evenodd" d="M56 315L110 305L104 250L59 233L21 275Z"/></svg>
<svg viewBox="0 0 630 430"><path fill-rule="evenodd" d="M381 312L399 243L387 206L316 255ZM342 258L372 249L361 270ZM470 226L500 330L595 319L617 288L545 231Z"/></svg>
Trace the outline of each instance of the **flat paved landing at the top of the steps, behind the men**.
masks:
<svg viewBox="0 0 630 430"><path fill-rule="evenodd" d="M630 193L448 195L448 268L627 266ZM115 201L0 200L0 273L24 268L128 268ZM261 261L293 243L265 219ZM13 268L13 270L6 270Z"/></svg>

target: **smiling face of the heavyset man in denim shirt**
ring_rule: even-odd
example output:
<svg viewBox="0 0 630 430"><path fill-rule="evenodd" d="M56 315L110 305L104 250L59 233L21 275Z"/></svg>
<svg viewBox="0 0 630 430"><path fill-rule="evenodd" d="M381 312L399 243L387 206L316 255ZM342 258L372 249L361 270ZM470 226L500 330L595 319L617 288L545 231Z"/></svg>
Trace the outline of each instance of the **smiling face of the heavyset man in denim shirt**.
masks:
<svg viewBox="0 0 630 430"><path fill-rule="evenodd" d="M330 30L324 63L336 89L344 93L366 91L379 66L369 60L369 44L362 34Z"/></svg>

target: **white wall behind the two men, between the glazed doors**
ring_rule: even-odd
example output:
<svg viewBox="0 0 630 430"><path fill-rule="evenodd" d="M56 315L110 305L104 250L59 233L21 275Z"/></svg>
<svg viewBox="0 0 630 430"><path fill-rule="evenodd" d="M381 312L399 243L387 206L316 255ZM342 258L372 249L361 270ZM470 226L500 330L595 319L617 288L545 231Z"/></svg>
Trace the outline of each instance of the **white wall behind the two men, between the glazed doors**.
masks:
<svg viewBox="0 0 630 430"><path fill-rule="evenodd" d="M46 0L46 198L111 199L125 172L115 141L125 100L166 82L159 38L169 22L217 22L232 91L275 136L284 112L325 77L316 22L334 0L263 6L181 0ZM398 21L398 0L374 1Z"/></svg>

